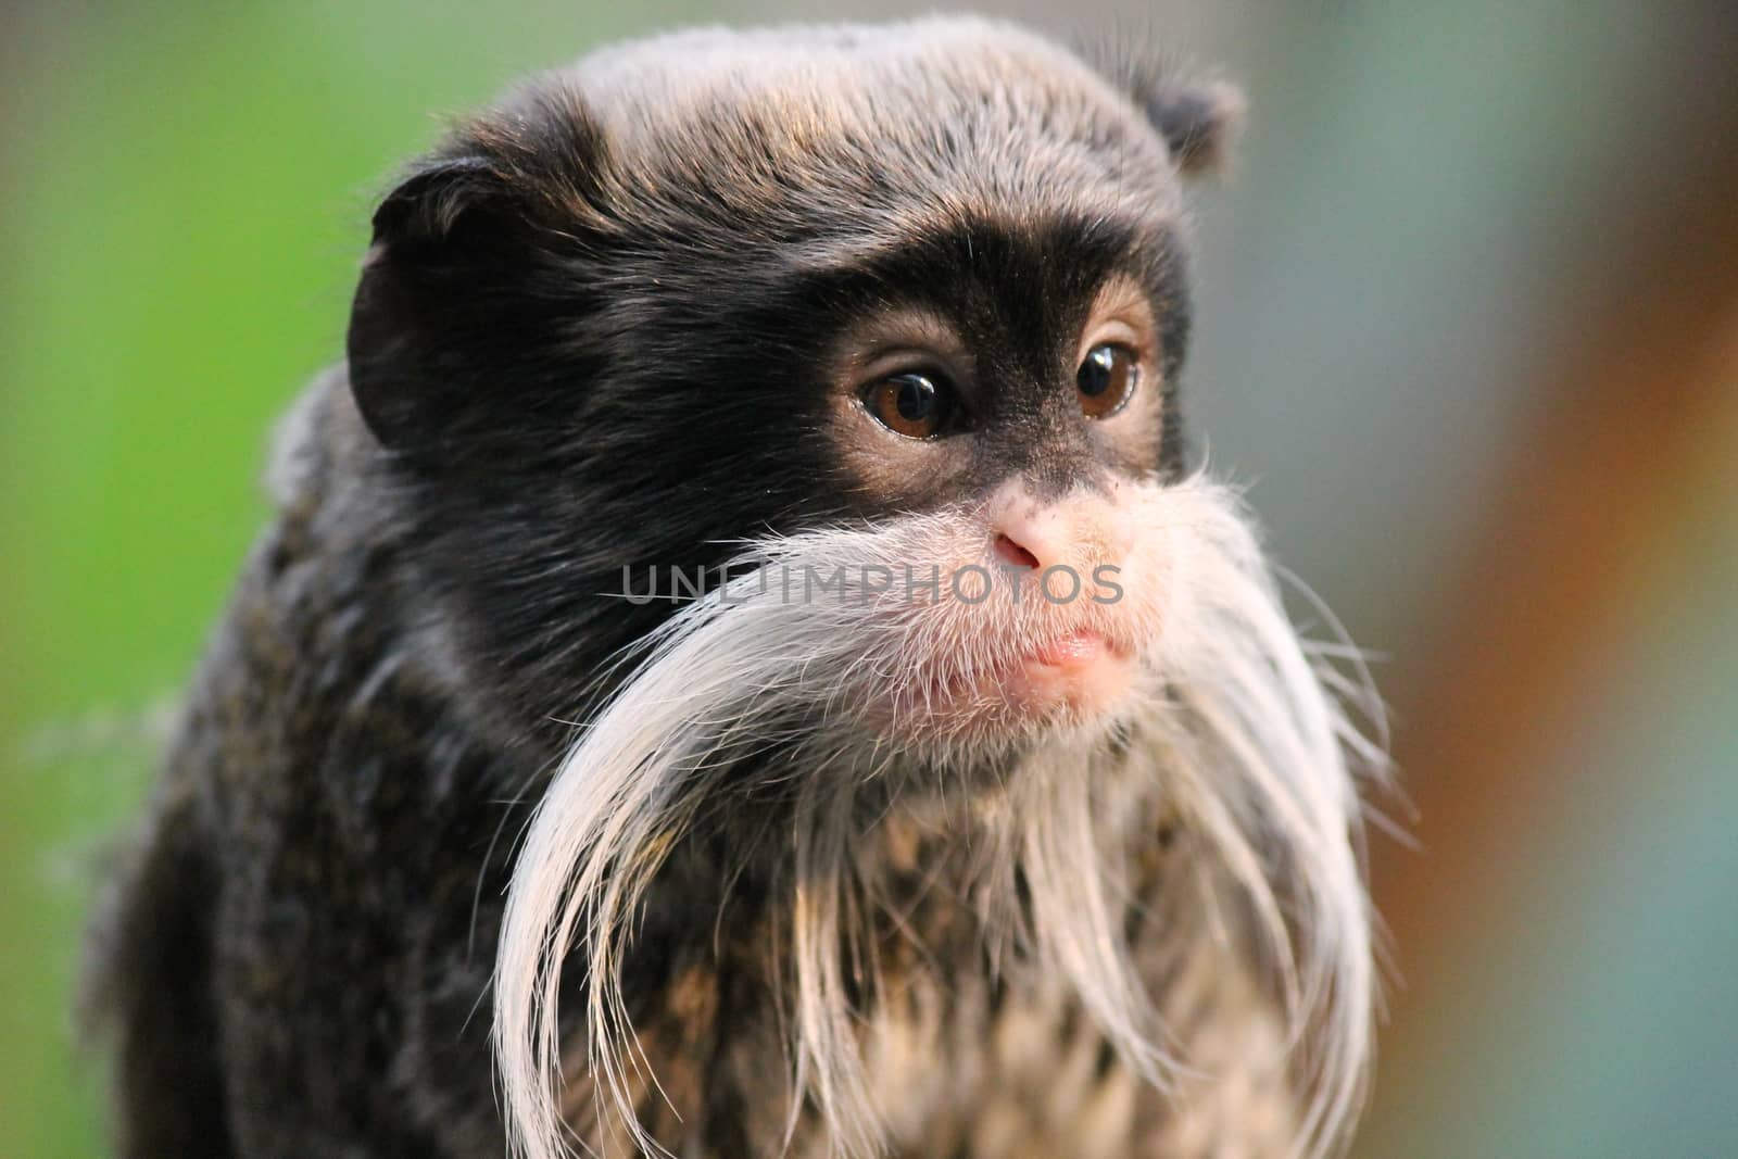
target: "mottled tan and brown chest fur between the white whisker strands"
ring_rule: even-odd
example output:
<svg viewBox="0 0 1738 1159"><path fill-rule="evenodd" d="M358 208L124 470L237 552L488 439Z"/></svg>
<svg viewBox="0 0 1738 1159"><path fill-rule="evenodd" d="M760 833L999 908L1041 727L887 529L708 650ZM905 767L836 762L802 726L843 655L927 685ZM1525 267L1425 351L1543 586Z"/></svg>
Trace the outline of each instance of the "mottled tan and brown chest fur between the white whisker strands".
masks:
<svg viewBox="0 0 1738 1159"><path fill-rule="evenodd" d="M1088 761L1083 761L1086 765ZM1098 761L1091 761L1098 763ZM839 954L862 1079L900 1159L1114 1159L1281 1156L1297 1133L1284 1018L1264 982L1246 916L1211 853L1152 791L1151 761L1119 752L1118 831L1124 938L1180 1065L1159 1086L1118 1055L1079 996L984 911L972 808L899 811L864 834L853 888L860 937ZM1083 773L1088 770L1083 768ZM1104 770L1095 770L1104 772ZM1137 834L1140 838L1137 839ZM1126 850L1121 853L1118 850ZM716 848L673 857L650 911L716 897ZM775 890L777 891L777 890ZM749 891L758 893L756 890ZM796 893L801 898L801 891ZM826 1159L838 1140L803 1103L793 1116L786 938L791 914L721 904L716 921L666 940L629 970L641 1062L641 1126L676 1156ZM798 900L801 905L801 900ZM704 914L704 904L693 909ZM640 985L636 985L636 977ZM563 1114L601 1154L636 1154L568 1055ZM601 1112L601 1117L600 1117Z"/></svg>

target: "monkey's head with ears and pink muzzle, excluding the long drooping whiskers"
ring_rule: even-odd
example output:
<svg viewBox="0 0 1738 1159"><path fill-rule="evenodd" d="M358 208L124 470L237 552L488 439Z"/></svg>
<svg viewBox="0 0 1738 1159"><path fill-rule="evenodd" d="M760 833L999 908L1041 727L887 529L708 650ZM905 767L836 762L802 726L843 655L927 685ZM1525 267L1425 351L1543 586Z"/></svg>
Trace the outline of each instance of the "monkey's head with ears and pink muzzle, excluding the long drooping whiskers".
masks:
<svg viewBox="0 0 1738 1159"><path fill-rule="evenodd" d="M1180 181L1237 108L921 21L664 36L457 127L375 214L349 381L478 686L570 719L674 577L777 544L787 711L1114 716L1175 605Z"/></svg>

